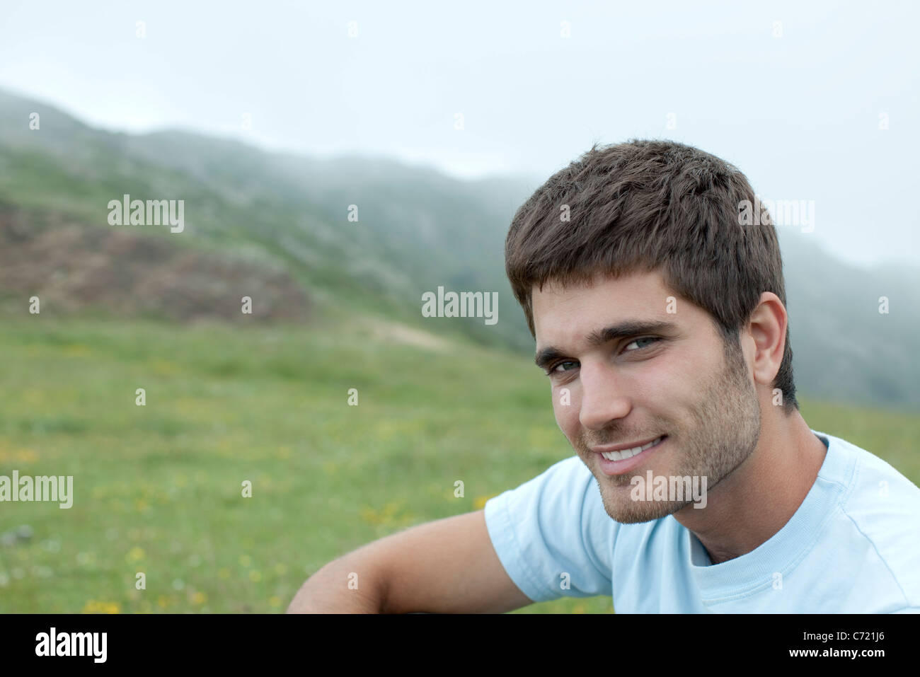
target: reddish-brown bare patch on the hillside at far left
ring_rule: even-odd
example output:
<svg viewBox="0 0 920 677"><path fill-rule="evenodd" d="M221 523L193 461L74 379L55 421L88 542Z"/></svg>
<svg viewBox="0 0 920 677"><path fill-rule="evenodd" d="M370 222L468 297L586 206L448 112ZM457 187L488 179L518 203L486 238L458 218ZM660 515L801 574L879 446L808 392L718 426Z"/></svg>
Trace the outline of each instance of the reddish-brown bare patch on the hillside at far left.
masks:
<svg viewBox="0 0 920 677"><path fill-rule="evenodd" d="M23 212L0 212L0 295L4 307L28 314L154 316L179 322L302 322L310 300L284 270L180 247L143 235L144 226L90 227L63 218L37 227ZM180 236L180 235L174 235ZM251 315L242 297L252 299Z"/></svg>

